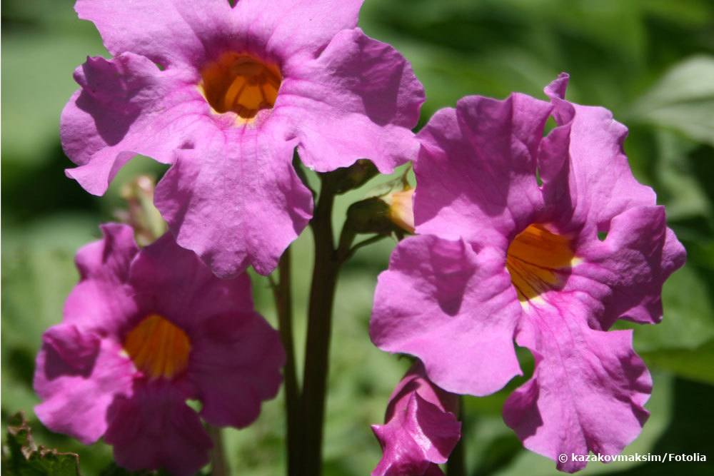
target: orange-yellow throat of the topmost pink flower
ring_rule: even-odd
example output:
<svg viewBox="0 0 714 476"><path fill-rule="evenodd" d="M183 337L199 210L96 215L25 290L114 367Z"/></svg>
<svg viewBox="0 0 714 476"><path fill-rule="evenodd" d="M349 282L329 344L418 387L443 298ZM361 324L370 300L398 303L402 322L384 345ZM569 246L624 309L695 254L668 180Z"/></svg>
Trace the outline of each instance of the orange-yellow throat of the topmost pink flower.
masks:
<svg viewBox="0 0 714 476"><path fill-rule="evenodd" d="M229 51L201 69L198 88L214 111L232 111L245 123L273 107L282 81L276 65Z"/></svg>

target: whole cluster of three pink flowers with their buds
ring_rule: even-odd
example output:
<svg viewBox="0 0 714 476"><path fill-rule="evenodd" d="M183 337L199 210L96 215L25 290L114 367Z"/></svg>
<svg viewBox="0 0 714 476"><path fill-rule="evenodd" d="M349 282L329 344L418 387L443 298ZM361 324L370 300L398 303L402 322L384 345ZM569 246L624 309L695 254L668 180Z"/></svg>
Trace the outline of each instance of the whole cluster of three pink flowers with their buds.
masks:
<svg viewBox="0 0 714 476"><path fill-rule="evenodd" d="M418 360L373 426L383 449L373 475L442 475L461 438L458 394L521 375L514 342L535 370L503 416L528 449L613 455L639 434L652 380L632 332L610 328L662 318L663 283L685 250L630 171L626 128L566 101L561 74L550 101L468 96L415 135L423 87L398 51L357 27L361 4L77 0L112 57L75 72L60 132L77 167L66 173L101 195L136 154L168 164L154 203L169 232L150 243L147 228L139 248L138 230L108 224L77 253L81 279L37 357L36 413L51 430L104 437L130 470L205 465L201 420L249 425L282 381L286 353L253 309L245 271L271 273L313 216L298 159L318 173L368 159L350 186L326 187L328 210L343 188L408 161L418 187L405 174L400 191L353 204L338 249L316 250L316 274L334 287L335 256L416 233L376 288L373 343ZM332 217L319 218L329 236L316 236L332 245ZM352 245L367 232L377 236ZM313 297L331 305L327 291ZM319 380L306 375L306 386Z"/></svg>

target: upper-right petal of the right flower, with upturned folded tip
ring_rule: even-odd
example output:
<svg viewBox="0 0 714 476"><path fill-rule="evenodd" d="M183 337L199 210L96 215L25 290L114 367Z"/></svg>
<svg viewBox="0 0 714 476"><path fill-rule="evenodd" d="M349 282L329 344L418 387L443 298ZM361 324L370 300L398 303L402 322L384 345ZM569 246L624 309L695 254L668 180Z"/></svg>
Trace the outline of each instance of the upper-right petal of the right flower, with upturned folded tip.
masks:
<svg viewBox="0 0 714 476"><path fill-rule="evenodd" d="M628 208L655 205L655 193L632 174L623 151L627 128L605 108L565 101L567 83L560 74L545 88L560 127L543 140L538 159L543 193L560 221L608 231Z"/></svg>

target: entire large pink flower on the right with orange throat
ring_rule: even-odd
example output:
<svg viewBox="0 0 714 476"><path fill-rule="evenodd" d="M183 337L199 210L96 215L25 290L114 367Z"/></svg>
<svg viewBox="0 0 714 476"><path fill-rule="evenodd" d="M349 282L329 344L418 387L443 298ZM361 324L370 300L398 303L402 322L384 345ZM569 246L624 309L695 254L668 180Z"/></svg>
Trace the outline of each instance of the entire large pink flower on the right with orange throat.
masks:
<svg viewBox="0 0 714 476"><path fill-rule="evenodd" d="M657 323L685 250L623 153L604 108L514 93L439 111L420 133L416 233L379 278L371 337L420 358L436 385L487 395L535 356L506 423L528 449L616 454L640 432L652 381L618 319ZM543 138L548 116L558 127ZM539 185L538 177L543 181ZM600 233L600 239L598 238ZM604 236L606 234L606 236Z"/></svg>

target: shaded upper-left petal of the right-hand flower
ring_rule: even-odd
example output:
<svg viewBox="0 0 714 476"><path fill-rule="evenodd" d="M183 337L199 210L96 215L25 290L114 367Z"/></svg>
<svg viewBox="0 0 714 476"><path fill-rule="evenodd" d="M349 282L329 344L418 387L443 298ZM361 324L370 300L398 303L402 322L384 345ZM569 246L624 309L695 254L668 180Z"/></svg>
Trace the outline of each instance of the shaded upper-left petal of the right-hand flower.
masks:
<svg viewBox="0 0 714 476"><path fill-rule="evenodd" d="M505 250L543 208L535 158L550 108L514 93L468 96L438 111L418 134L417 233Z"/></svg>

